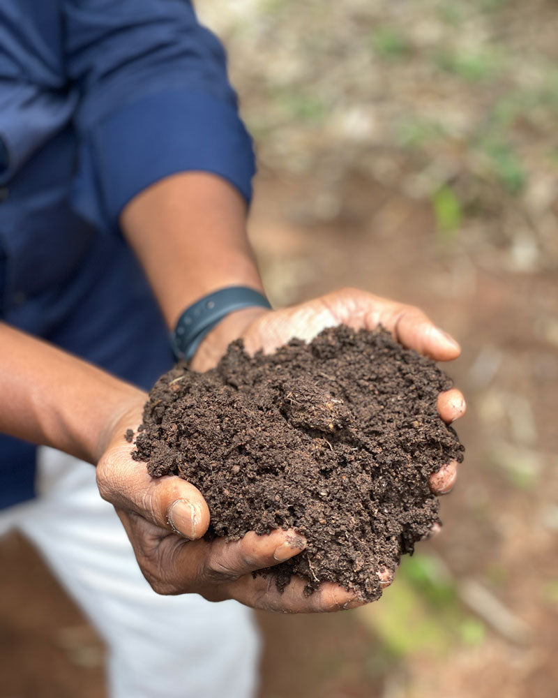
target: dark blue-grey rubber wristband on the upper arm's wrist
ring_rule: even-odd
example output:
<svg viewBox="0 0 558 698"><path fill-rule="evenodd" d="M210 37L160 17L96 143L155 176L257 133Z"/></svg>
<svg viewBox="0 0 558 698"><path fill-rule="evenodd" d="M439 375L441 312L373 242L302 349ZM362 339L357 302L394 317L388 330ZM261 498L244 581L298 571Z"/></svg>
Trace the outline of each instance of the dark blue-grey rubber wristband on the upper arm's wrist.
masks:
<svg viewBox="0 0 558 698"><path fill-rule="evenodd" d="M226 315L255 306L271 309L262 293L247 286L229 286L199 299L182 313L171 334L170 343L176 359L189 361L204 336Z"/></svg>

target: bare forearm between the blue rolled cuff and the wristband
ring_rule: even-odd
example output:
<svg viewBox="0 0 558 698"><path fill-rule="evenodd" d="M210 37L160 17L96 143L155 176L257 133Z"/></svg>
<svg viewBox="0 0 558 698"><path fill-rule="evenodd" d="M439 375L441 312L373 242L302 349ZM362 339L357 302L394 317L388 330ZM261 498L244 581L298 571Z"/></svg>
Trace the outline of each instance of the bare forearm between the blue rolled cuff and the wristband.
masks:
<svg viewBox="0 0 558 698"><path fill-rule="evenodd" d="M123 209L121 226L169 327L207 293L228 285L262 290L246 235L246 202L204 172L167 177Z"/></svg>

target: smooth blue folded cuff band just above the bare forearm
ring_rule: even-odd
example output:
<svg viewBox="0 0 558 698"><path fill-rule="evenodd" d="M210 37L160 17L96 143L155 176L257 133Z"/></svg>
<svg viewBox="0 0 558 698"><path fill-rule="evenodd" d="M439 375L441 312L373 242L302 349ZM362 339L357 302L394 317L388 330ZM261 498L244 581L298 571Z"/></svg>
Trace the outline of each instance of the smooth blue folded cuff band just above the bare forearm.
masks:
<svg viewBox="0 0 558 698"><path fill-rule="evenodd" d="M103 228L118 230L126 204L177 172L212 172L249 203L255 157L236 108L202 91L151 94L111 114L82 140L73 203Z"/></svg>

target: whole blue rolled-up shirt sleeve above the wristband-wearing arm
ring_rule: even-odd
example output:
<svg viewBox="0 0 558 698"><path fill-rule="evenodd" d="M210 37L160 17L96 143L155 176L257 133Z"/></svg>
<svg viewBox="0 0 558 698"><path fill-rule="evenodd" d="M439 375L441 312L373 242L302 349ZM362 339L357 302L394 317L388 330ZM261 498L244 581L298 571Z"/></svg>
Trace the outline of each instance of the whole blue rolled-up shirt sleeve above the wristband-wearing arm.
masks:
<svg viewBox="0 0 558 698"><path fill-rule="evenodd" d="M128 201L169 174L212 172L249 202L250 135L225 53L186 0L66 0L65 61L79 101L75 208L118 229Z"/></svg>

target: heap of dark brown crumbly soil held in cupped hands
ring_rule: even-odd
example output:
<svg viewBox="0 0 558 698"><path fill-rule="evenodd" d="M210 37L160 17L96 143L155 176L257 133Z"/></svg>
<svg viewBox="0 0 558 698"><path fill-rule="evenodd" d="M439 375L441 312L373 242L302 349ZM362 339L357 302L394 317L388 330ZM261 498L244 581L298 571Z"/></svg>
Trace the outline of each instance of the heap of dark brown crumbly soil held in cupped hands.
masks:
<svg viewBox="0 0 558 698"><path fill-rule="evenodd" d="M151 390L133 457L202 492L208 535L295 528L300 555L271 567L311 593L333 581L366 600L377 572L439 522L428 477L464 450L436 401L451 380L391 334L340 326L250 357L233 342L207 373L176 366Z"/></svg>

